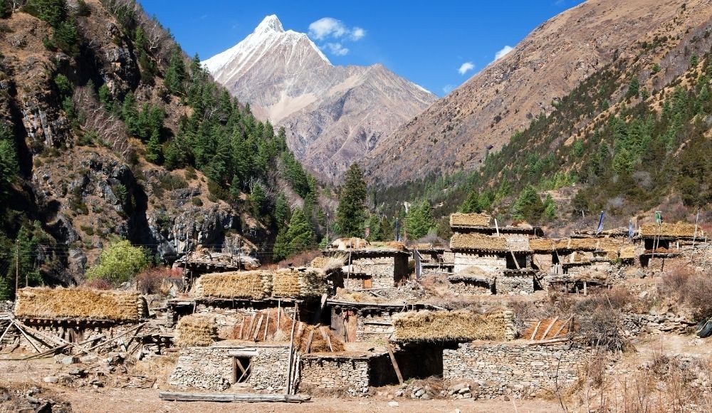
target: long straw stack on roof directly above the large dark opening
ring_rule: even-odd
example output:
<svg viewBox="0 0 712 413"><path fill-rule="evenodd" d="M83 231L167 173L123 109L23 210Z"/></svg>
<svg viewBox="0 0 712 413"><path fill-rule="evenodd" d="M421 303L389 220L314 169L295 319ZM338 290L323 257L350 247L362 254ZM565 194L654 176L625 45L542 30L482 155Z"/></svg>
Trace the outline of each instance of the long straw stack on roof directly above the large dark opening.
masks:
<svg viewBox="0 0 712 413"><path fill-rule="evenodd" d="M481 315L468 310L418 311L393 315L394 340L472 341L506 340L502 312Z"/></svg>

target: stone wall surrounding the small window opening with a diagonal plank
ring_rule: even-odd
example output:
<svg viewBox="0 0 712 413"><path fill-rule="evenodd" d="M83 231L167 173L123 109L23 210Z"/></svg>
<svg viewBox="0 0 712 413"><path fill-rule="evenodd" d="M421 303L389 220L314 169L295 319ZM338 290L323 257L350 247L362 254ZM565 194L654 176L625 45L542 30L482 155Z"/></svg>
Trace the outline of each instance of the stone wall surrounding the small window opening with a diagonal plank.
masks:
<svg viewBox="0 0 712 413"><path fill-rule="evenodd" d="M226 390L232 384L232 357L251 357L252 372L246 384L268 393L285 391L289 362L286 345L259 347L186 347L169 377L169 385Z"/></svg>

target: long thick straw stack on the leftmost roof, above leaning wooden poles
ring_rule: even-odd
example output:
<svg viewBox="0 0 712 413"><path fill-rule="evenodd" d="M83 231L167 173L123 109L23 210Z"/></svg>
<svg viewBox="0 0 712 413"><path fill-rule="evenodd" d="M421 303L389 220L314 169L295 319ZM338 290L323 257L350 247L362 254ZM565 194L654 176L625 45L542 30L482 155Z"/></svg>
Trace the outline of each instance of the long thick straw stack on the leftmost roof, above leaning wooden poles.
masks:
<svg viewBox="0 0 712 413"><path fill-rule="evenodd" d="M103 291L91 288L21 288L15 314L36 318L91 318L137 321L138 300L134 291Z"/></svg>

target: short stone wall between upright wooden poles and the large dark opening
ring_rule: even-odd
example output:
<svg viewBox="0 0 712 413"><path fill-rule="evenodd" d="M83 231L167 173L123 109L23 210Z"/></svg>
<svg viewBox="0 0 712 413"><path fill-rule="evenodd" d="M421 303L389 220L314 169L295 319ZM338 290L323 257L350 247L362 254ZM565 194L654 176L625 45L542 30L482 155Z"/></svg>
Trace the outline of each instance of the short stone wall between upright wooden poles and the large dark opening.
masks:
<svg viewBox="0 0 712 413"><path fill-rule="evenodd" d="M368 393L370 366L367 359L345 359L305 355L301 359L300 390L346 392L350 396Z"/></svg>

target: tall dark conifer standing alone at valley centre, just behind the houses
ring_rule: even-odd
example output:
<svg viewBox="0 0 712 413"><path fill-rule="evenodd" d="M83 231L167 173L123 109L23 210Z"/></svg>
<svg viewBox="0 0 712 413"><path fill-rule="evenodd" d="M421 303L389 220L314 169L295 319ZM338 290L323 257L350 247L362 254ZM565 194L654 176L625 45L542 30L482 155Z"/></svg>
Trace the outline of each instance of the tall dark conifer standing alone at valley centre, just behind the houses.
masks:
<svg viewBox="0 0 712 413"><path fill-rule="evenodd" d="M362 236L366 215L366 182L358 164L351 164L339 194L336 226L342 236Z"/></svg>

